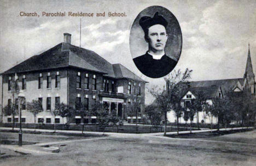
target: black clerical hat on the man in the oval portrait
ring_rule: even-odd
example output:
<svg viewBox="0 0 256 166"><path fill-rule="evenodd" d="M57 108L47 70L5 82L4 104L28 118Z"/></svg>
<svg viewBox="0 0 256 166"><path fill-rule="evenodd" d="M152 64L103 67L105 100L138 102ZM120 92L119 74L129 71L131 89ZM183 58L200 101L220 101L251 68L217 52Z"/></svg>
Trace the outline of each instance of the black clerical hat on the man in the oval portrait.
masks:
<svg viewBox="0 0 256 166"><path fill-rule="evenodd" d="M167 27L168 22L161 15L158 15L158 11L153 17L143 16L139 19L139 25L142 27L144 32L148 30L149 27L154 26L155 24L161 24L165 28Z"/></svg>

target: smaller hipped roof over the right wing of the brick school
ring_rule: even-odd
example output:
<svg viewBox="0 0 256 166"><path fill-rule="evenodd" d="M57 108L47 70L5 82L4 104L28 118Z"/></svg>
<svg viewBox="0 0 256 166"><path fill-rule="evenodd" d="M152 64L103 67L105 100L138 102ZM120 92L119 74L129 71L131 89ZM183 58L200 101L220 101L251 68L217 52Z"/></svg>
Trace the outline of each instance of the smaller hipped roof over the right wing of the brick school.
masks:
<svg viewBox="0 0 256 166"><path fill-rule="evenodd" d="M130 78L137 81L146 82L121 64L113 64L113 69L116 78Z"/></svg>

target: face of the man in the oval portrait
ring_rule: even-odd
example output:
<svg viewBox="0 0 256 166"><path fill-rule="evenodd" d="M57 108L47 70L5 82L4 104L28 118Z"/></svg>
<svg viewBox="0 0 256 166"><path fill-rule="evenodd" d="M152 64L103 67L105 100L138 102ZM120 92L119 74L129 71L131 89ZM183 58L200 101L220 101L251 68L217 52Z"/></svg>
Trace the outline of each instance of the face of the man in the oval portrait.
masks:
<svg viewBox="0 0 256 166"><path fill-rule="evenodd" d="M148 35L146 41L149 44L149 50L162 51L165 49L165 44L168 35L166 34L166 29L161 24L155 24L148 28Z"/></svg>

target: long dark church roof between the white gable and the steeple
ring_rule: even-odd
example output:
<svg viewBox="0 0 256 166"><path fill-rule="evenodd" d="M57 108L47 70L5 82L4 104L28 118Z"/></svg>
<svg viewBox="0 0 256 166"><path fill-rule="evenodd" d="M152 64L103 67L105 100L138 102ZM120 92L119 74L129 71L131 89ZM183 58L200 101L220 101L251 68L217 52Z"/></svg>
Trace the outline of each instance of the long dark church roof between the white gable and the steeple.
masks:
<svg viewBox="0 0 256 166"><path fill-rule="evenodd" d="M237 82L239 82L242 86L244 85L244 78L232 78L232 79L216 79L216 80L208 80L208 81L193 81L189 82L191 88L193 87L221 87L223 93L232 90L236 87Z"/></svg>

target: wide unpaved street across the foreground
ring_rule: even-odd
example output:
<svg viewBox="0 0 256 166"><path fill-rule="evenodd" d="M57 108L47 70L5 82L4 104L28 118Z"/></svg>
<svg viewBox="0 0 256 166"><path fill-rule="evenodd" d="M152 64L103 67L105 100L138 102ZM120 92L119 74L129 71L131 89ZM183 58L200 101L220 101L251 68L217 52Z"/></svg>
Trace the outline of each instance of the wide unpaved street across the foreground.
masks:
<svg viewBox="0 0 256 166"><path fill-rule="evenodd" d="M0 133L0 139L17 137ZM15 155L0 165L255 165L256 131L200 139L175 139L141 134L72 137L24 134L24 141L56 142L59 153ZM78 141L80 139L80 141ZM88 139L86 141L86 139ZM67 140L71 140L67 142ZM57 142L59 141L59 142ZM225 143L228 142L228 143ZM31 146L31 145L30 145ZM1 151L3 152L3 150ZM8 152L5 150L5 152Z"/></svg>

